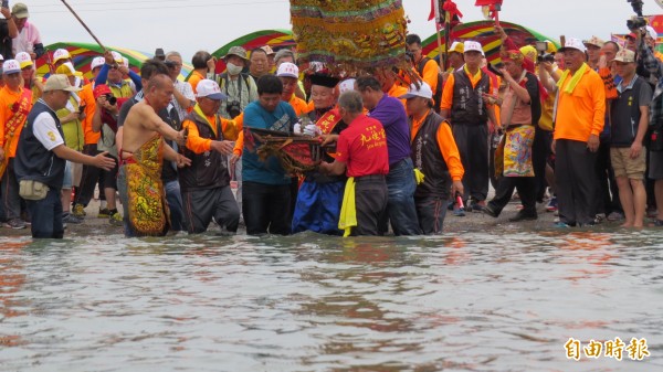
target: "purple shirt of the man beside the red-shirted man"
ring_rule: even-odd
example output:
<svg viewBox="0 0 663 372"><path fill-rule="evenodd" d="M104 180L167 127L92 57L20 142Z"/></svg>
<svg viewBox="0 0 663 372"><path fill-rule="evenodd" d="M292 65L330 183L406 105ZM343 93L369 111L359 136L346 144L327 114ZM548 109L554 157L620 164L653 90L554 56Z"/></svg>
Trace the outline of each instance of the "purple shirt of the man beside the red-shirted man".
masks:
<svg viewBox="0 0 663 372"><path fill-rule="evenodd" d="M368 116L379 120L387 134L387 150L389 151L389 166L410 157L410 125L403 104L387 94Z"/></svg>

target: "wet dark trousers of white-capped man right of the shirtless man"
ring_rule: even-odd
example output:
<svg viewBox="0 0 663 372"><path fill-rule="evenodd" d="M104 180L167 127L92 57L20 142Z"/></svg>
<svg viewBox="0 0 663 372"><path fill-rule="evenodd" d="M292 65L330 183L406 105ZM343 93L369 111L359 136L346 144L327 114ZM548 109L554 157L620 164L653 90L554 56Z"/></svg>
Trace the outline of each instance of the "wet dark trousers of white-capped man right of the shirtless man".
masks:
<svg viewBox="0 0 663 372"><path fill-rule="evenodd" d="M182 208L189 234L207 231L212 217L221 228L238 231L240 208L230 185L208 190L182 191Z"/></svg>

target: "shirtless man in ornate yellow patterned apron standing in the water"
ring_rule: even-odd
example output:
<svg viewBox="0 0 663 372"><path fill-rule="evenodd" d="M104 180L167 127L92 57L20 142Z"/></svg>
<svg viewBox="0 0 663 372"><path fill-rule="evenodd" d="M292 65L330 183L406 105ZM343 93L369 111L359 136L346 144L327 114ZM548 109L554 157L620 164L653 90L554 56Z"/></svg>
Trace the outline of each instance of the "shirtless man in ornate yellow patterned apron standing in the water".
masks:
<svg viewBox="0 0 663 372"><path fill-rule="evenodd" d="M144 99L131 107L124 123L119 150L123 167L117 183L127 236L164 235L168 232L168 205L160 180L162 162L175 161L180 168L191 164L191 160L164 144L164 137L180 146L186 142L183 130L172 129L157 115L172 99L173 89L168 75L152 76L144 89Z"/></svg>

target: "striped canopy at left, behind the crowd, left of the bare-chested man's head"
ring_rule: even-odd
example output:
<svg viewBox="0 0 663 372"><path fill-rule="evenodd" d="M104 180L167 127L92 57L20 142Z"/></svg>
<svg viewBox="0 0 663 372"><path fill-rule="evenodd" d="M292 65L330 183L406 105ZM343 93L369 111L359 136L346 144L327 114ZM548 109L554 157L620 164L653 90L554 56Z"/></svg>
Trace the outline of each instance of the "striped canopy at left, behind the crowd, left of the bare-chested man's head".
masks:
<svg viewBox="0 0 663 372"><path fill-rule="evenodd" d="M49 76L51 74L50 65L53 60L53 52L59 49L66 50L72 56L74 68L83 73L86 78L92 78L92 72L90 64L92 60L97 56L102 56L104 51L97 44L90 43L54 43L46 47L46 53L36 60L36 73L38 75ZM129 60L129 67L139 73L143 62L154 56L151 53L143 53L126 47L108 47L112 51L120 53L123 56ZM182 64L182 72L180 73L179 79L183 81L185 76L188 76L192 71L192 66L188 63Z"/></svg>

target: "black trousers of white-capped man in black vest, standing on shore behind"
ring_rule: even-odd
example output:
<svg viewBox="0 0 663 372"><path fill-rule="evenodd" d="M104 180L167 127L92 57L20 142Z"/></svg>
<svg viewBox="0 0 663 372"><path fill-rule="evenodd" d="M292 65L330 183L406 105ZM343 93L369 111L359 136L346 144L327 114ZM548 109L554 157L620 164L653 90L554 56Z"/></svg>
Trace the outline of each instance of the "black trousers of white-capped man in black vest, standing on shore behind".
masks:
<svg viewBox="0 0 663 372"><path fill-rule="evenodd" d="M465 169L463 200L486 200L488 195L488 127L482 125L454 125L453 138Z"/></svg>

